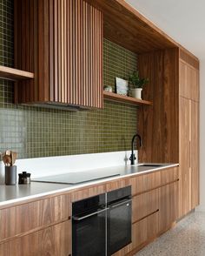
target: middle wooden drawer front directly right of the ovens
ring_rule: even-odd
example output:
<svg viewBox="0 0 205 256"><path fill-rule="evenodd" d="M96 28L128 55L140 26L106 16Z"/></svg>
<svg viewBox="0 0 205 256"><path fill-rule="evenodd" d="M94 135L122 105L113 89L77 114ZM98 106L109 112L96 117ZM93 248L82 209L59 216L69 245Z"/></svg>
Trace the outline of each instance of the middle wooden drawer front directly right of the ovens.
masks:
<svg viewBox="0 0 205 256"><path fill-rule="evenodd" d="M132 222L159 211L159 189L142 193L132 199Z"/></svg>

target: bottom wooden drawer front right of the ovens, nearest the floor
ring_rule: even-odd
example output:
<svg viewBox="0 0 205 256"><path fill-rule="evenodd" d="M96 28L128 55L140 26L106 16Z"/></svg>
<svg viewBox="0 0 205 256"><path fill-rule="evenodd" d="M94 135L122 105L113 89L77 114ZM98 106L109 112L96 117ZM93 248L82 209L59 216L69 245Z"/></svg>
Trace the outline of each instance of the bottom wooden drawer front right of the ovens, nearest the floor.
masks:
<svg viewBox="0 0 205 256"><path fill-rule="evenodd" d="M159 212L155 212L132 225L132 250L158 233Z"/></svg>

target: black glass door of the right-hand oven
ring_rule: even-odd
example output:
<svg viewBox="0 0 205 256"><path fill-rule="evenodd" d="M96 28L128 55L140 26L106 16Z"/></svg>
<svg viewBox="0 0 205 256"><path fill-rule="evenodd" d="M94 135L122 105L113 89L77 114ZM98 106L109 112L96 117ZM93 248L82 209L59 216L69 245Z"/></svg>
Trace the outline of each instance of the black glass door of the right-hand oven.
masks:
<svg viewBox="0 0 205 256"><path fill-rule="evenodd" d="M131 243L131 199L109 205L108 256Z"/></svg>

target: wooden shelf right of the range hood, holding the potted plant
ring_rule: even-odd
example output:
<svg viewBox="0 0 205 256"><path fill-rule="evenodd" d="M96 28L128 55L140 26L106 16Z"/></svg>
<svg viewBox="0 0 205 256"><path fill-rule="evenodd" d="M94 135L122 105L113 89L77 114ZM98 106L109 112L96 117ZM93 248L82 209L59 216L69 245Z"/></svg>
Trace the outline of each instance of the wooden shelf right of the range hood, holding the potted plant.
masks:
<svg viewBox="0 0 205 256"><path fill-rule="evenodd" d="M148 101L148 100L143 100L143 99L138 99L138 98L132 98L129 96L123 96L123 95L119 95L116 94L114 92L109 92L109 91L103 91L103 97L105 99L109 99L111 101L117 101L117 102L122 102L122 103L126 103L126 104L146 104L146 105L151 105L152 102Z"/></svg>

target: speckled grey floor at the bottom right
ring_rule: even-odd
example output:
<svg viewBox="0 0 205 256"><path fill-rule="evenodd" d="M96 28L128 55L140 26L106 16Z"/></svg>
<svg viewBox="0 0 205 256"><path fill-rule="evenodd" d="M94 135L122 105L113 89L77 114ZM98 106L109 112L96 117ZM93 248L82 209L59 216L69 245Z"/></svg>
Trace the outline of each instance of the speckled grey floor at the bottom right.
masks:
<svg viewBox="0 0 205 256"><path fill-rule="evenodd" d="M205 256L205 212L193 212L135 256Z"/></svg>

